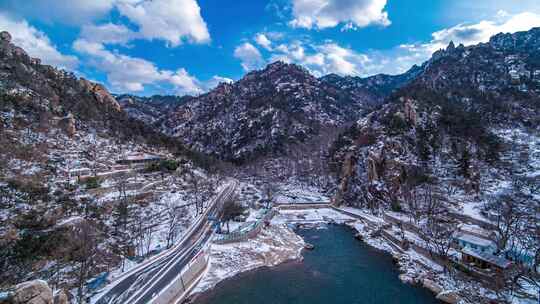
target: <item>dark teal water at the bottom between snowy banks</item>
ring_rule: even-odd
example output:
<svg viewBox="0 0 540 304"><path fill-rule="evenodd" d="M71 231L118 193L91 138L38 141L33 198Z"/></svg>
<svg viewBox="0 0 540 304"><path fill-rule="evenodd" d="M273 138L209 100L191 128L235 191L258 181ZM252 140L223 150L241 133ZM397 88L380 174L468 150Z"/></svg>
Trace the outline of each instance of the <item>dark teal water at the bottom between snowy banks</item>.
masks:
<svg viewBox="0 0 540 304"><path fill-rule="evenodd" d="M353 238L350 228L299 230L313 245L304 260L225 280L196 304L435 304L431 292L403 284L389 254Z"/></svg>

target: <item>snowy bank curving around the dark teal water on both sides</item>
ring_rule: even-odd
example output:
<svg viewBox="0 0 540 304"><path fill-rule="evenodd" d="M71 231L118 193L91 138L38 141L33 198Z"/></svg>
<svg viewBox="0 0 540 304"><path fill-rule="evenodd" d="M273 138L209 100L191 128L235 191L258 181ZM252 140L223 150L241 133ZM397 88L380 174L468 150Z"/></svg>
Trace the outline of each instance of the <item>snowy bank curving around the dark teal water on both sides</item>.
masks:
<svg viewBox="0 0 540 304"><path fill-rule="evenodd" d="M381 227L388 227L390 223L361 210L333 208L280 210L271 223L269 228L263 230L253 240L230 245L212 245L213 264L201 284L194 290L194 294L206 291L220 281L242 272L302 259L301 252L305 243L287 225L318 227L335 223L352 228L351 239L356 235L367 245L389 253L400 272L396 277L404 283L422 286L447 303L458 303L460 299L467 299L470 303L487 303L492 299L490 299L492 291L485 289L480 283L460 273L445 271L441 265L425 254L415 251L414 248L404 250L395 239L392 241L388 236L377 233L381 231Z"/></svg>

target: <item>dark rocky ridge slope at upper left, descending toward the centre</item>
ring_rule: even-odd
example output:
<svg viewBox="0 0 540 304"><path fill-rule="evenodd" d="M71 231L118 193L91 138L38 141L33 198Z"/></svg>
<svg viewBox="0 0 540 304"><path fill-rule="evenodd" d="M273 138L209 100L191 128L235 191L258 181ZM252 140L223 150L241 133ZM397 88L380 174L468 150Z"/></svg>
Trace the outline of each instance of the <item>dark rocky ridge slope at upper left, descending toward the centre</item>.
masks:
<svg viewBox="0 0 540 304"><path fill-rule="evenodd" d="M70 136L86 128L137 141L171 141L130 118L103 85L28 56L8 32L0 33L0 94L3 112L14 111L42 128L60 127Z"/></svg>

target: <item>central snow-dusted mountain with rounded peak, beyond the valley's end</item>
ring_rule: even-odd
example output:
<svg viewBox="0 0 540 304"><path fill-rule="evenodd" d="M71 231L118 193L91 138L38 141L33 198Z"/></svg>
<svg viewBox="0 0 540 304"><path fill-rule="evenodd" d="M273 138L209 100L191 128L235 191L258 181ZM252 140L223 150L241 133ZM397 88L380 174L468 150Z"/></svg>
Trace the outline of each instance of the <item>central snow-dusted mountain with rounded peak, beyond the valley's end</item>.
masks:
<svg viewBox="0 0 540 304"><path fill-rule="evenodd" d="M241 162L285 153L289 143L340 128L371 104L300 66L276 62L191 99L166 115L162 130L199 151Z"/></svg>

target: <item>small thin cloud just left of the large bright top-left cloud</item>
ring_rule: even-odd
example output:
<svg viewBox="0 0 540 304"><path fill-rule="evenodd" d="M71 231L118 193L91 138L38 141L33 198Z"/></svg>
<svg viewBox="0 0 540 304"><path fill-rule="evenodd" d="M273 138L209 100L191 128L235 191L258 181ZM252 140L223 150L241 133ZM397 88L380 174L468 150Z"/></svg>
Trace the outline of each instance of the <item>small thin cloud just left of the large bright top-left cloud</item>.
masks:
<svg viewBox="0 0 540 304"><path fill-rule="evenodd" d="M126 44L136 37L137 34L124 25L113 23L85 25L80 34L80 39L106 44Z"/></svg>

